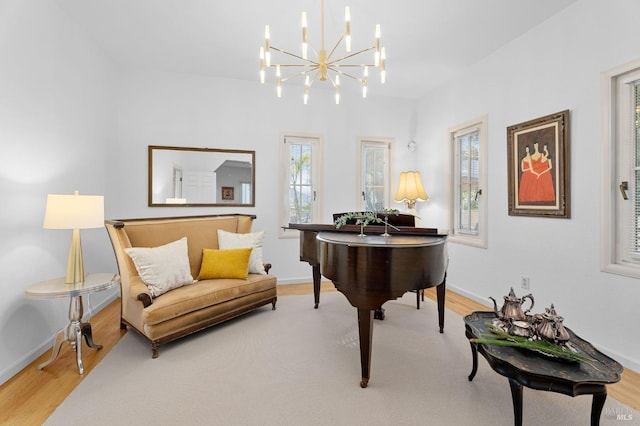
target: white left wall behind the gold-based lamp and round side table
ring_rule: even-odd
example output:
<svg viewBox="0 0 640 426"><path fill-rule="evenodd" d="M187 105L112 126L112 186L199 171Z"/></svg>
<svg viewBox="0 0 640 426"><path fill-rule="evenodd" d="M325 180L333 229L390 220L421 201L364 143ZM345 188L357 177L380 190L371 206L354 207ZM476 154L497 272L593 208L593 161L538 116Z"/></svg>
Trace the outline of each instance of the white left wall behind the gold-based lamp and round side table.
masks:
<svg viewBox="0 0 640 426"><path fill-rule="evenodd" d="M53 2L32 0L0 0L0 64L2 383L68 323L68 300L28 300L24 289L66 271L71 231L42 229L47 193L106 190L113 68ZM109 267L106 231L82 238L87 272Z"/></svg>

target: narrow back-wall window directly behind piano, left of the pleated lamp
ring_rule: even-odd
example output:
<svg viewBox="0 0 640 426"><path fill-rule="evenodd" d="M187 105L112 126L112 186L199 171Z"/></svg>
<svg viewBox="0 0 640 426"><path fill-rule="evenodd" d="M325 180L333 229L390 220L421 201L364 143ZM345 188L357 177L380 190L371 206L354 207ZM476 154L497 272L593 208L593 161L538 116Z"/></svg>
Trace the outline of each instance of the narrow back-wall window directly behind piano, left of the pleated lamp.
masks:
<svg viewBox="0 0 640 426"><path fill-rule="evenodd" d="M390 161L392 141L360 139L360 209L390 208Z"/></svg>

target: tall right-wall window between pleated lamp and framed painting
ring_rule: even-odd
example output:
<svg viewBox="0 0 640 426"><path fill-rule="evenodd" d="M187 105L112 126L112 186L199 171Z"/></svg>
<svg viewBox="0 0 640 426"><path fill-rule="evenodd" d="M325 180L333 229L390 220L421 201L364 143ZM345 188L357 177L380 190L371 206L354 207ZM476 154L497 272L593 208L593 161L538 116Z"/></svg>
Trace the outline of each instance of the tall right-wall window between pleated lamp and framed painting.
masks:
<svg viewBox="0 0 640 426"><path fill-rule="evenodd" d="M449 130L451 141L452 242L487 247L487 118Z"/></svg>

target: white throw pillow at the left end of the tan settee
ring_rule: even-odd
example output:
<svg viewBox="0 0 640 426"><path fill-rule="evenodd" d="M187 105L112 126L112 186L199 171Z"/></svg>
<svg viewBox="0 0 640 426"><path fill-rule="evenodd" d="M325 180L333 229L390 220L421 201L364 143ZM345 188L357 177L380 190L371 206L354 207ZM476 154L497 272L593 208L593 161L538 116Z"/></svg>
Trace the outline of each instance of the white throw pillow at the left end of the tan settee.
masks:
<svg viewBox="0 0 640 426"><path fill-rule="evenodd" d="M187 237L160 247L131 247L124 251L133 260L152 297L195 282L189 266Z"/></svg>

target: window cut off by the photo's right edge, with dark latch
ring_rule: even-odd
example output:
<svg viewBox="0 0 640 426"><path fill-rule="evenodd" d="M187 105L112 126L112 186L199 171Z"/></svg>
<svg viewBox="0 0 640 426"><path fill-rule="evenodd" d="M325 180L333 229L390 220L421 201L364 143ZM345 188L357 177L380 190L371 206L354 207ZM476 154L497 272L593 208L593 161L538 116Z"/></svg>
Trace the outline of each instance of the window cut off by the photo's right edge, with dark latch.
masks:
<svg viewBox="0 0 640 426"><path fill-rule="evenodd" d="M640 278L640 61L603 74L602 270Z"/></svg>

